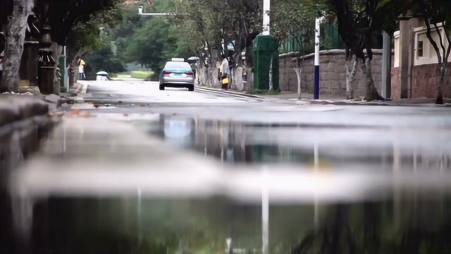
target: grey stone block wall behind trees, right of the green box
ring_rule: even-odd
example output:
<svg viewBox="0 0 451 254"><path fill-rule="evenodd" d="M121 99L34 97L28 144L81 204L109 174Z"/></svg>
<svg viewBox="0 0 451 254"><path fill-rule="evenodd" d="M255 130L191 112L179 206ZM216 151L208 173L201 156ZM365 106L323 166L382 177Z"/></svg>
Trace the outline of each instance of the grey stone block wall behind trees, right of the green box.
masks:
<svg viewBox="0 0 451 254"><path fill-rule="evenodd" d="M297 78L292 61L295 54L280 55L280 90L297 92ZM346 97L346 61L345 50L334 49L320 52L320 97L321 95ZM373 79L376 88L381 92L382 82L382 50L373 52ZM302 70L302 92L313 93L314 86L314 54L304 56ZM364 97L366 89L360 67L357 66L356 80L354 81L354 95Z"/></svg>

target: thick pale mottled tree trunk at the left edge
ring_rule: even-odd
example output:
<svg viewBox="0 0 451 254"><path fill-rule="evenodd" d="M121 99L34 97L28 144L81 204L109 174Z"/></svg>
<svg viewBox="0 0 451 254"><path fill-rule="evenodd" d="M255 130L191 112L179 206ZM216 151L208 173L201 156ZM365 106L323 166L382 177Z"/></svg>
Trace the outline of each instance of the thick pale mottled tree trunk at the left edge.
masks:
<svg viewBox="0 0 451 254"><path fill-rule="evenodd" d="M3 85L0 87L1 92L18 92L19 68L25 42L27 18L30 16L33 6L35 6L34 0L14 0L13 2L13 13L4 31L6 36L6 61L4 63Z"/></svg>

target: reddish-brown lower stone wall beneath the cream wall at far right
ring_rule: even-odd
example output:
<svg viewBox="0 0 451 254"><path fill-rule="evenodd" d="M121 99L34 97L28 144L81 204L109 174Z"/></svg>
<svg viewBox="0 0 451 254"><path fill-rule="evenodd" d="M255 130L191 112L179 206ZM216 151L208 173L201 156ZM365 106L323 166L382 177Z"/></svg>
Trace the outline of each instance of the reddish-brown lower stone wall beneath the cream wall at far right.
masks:
<svg viewBox="0 0 451 254"><path fill-rule="evenodd" d="M400 99L399 68L392 69L393 98ZM412 85L410 95L412 98L435 99L438 94L437 63L414 66L412 68ZM443 96L451 98L451 68L447 68L445 82L443 83Z"/></svg>

